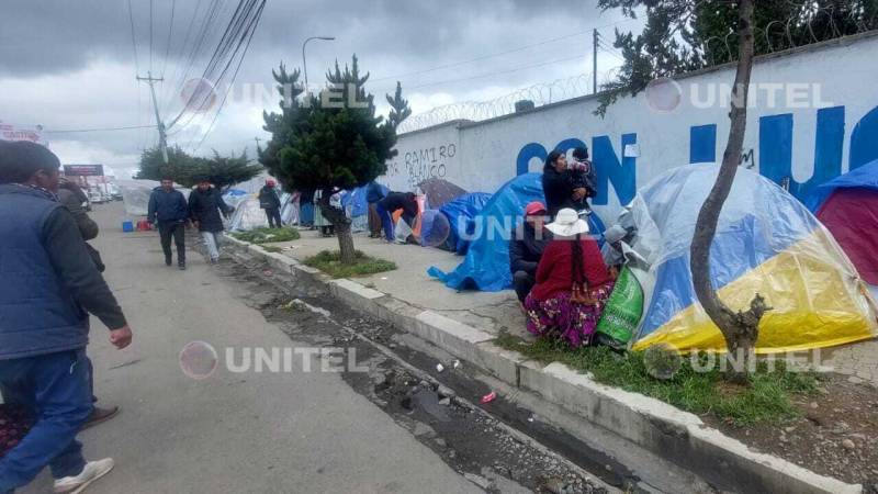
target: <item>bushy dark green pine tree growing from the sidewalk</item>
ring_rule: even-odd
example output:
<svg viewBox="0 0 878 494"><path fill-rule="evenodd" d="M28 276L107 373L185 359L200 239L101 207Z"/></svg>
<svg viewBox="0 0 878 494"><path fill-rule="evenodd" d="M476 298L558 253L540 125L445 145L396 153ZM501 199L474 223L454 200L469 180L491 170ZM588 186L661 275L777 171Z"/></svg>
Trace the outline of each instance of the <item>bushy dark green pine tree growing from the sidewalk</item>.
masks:
<svg viewBox="0 0 878 494"><path fill-rule="evenodd" d="M286 72L281 66L274 79L283 91L283 85L297 85L299 71ZM281 113L264 114L263 128L272 137L260 151L260 160L284 184L322 192L318 205L335 226L341 262L352 263L350 218L329 199L386 171L386 160L396 153L396 130L375 115L374 97L365 90L369 74L360 75L356 55L344 70L336 61L326 79L329 87L319 97L286 102Z"/></svg>

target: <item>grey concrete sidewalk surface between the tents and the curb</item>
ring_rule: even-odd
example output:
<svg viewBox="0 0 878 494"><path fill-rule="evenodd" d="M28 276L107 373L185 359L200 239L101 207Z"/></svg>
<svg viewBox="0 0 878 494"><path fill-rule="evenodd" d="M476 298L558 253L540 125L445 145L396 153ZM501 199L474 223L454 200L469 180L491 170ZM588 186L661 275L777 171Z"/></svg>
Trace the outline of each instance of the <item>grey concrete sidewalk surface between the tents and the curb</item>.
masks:
<svg viewBox="0 0 878 494"><path fill-rule="evenodd" d="M334 236L322 237L316 231L300 232L302 238L299 240L270 245L280 247L283 255L300 261L320 250L338 249L338 239ZM389 245L383 239L369 238L365 234L354 235L354 246L370 256L392 260L397 266L395 271L357 278L361 284L493 336L505 329L511 335L532 339L525 329L525 316L514 291L455 292L427 276L430 266L451 271L463 257L431 247ZM878 340L823 349L822 356L825 366L849 375L853 382L866 381L878 386Z"/></svg>

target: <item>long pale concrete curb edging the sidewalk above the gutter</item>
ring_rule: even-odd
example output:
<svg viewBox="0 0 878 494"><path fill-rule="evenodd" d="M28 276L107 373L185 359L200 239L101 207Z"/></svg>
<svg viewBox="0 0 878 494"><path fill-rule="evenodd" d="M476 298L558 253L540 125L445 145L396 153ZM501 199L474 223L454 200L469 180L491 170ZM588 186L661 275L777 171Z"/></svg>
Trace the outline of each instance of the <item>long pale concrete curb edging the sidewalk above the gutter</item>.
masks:
<svg viewBox="0 0 878 494"><path fill-rule="evenodd" d="M483 330L412 306L353 280L334 280L288 256L229 238L235 249L264 259L296 281L322 285L349 305L474 363L510 386L537 393L698 474L717 489L790 494L863 492L859 484L847 484L781 458L751 451L743 442L708 427L696 415L664 402L599 384L560 362L542 366L526 360L520 353L494 345L493 336Z"/></svg>

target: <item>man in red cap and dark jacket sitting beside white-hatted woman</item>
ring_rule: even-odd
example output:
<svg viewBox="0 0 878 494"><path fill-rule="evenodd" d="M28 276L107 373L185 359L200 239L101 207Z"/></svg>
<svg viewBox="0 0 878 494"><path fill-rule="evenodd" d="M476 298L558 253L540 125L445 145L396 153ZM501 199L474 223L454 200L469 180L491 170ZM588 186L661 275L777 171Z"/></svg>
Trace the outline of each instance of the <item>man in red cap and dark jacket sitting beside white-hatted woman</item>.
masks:
<svg viewBox="0 0 878 494"><path fill-rule="evenodd" d="M533 201L525 207L525 224L509 240L509 271L518 301L524 304L533 283L537 266L551 234L543 228L545 205Z"/></svg>

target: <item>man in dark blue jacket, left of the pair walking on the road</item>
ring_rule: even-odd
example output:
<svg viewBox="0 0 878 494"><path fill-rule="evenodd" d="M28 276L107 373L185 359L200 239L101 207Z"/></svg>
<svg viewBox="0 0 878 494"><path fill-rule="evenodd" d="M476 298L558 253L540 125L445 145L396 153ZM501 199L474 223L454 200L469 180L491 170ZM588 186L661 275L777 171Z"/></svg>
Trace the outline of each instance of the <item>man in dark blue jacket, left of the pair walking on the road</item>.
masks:
<svg viewBox="0 0 878 494"><path fill-rule="evenodd" d="M149 197L149 207L146 220L149 224L158 225L158 235L161 238L161 250L165 251L165 265L171 266L171 237L177 244L177 265L185 269L185 221L189 217L189 207L183 193L173 188L173 180L161 179L161 187L153 189Z"/></svg>

